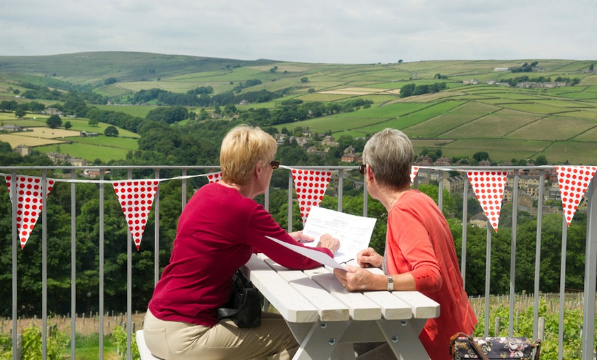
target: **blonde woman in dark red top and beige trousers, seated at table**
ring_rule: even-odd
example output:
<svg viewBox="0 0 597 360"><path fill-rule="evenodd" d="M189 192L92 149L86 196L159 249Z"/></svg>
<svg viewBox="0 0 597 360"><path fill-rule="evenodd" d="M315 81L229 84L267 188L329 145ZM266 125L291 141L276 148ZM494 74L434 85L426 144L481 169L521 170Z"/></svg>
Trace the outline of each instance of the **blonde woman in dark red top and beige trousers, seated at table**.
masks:
<svg viewBox="0 0 597 360"><path fill-rule="evenodd" d="M302 232L288 234L253 198L266 192L275 139L260 128L237 126L220 150L222 181L202 186L178 220L170 262L156 284L143 324L152 354L161 359L291 359L299 344L283 317L262 313L261 326L239 328L218 320L231 291L233 273L261 252L290 269L320 266L266 238L303 246ZM322 236L316 249L329 256L338 239Z"/></svg>

